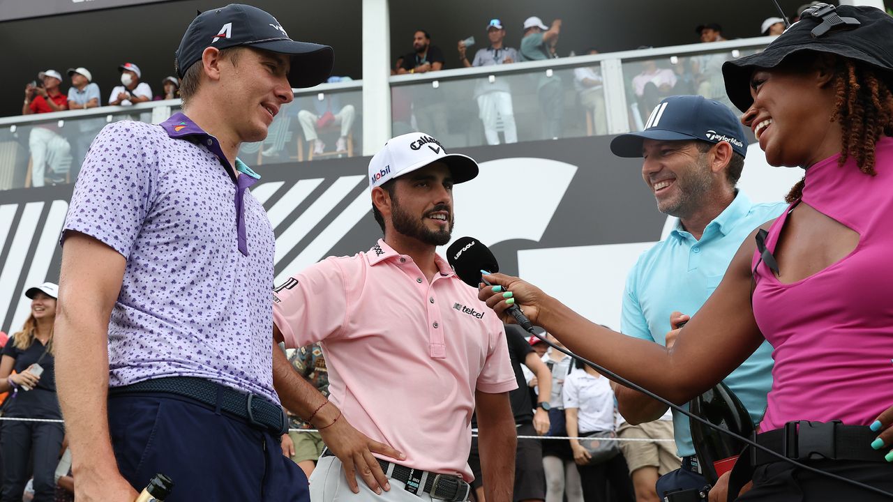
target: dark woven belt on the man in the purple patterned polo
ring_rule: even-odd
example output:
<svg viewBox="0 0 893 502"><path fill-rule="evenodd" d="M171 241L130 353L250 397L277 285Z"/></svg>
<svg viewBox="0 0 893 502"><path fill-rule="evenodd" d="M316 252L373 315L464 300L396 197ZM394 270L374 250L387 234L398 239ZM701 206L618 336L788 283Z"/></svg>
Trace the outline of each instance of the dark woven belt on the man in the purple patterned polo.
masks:
<svg viewBox="0 0 893 502"><path fill-rule="evenodd" d="M264 397L246 394L196 377L169 377L140 381L109 389L110 396L163 393L188 397L204 406L234 415L250 425L281 436L288 432L288 415Z"/></svg>

